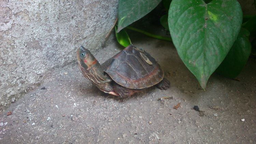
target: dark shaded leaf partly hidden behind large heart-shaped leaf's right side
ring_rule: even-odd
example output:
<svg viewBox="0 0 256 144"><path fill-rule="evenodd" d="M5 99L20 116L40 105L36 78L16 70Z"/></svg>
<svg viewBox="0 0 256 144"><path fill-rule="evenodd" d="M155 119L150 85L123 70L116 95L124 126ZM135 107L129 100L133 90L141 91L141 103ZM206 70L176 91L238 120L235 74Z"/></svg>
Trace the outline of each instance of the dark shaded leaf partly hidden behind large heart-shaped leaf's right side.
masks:
<svg viewBox="0 0 256 144"><path fill-rule="evenodd" d="M221 65L216 69L218 74L229 78L235 78L240 74L251 53L249 35L250 32L248 30L241 28L237 40Z"/></svg>

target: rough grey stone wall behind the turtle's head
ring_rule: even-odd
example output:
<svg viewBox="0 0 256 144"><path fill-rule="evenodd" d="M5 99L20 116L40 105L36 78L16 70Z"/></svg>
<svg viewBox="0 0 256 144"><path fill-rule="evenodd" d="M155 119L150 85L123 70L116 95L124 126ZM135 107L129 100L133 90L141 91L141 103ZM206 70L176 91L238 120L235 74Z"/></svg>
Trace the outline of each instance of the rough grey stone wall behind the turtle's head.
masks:
<svg viewBox="0 0 256 144"><path fill-rule="evenodd" d="M80 45L94 53L116 17L117 0L1 0L0 111L74 62Z"/></svg>

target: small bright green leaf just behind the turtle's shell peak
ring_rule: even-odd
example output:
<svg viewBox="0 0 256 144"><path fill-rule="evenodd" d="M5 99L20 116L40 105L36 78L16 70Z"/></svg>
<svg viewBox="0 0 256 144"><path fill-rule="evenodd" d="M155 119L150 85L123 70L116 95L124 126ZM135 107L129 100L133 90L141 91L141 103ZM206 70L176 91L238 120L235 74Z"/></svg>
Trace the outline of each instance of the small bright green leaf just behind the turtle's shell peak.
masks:
<svg viewBox="0 0 256 144"><path fill-rule="evenodd" d="M115 26L115 33L116 33L116 40L118 41L118 43L124 47L127 47L128 45L130 45L131 40L127 32L124 29L122 29L120 32L117 33L116 30L117 30L117 26Z"/></svg>

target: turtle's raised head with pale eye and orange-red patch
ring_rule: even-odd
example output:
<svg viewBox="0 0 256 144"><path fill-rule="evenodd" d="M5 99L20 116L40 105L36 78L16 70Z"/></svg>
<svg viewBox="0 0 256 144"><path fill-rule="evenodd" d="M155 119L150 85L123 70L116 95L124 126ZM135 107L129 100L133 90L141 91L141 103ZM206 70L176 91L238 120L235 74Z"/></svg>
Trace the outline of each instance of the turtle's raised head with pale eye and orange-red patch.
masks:
<svg viewBox="0 0 256 144"><path fill-rule="evenodd" d="M90 53L90 51L83 46L80 46L77 49L76 58L80 68L86 70L90 69L98 62L96 58Z"/></svg>

